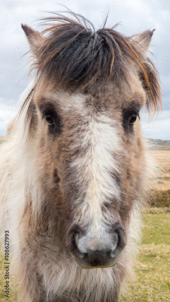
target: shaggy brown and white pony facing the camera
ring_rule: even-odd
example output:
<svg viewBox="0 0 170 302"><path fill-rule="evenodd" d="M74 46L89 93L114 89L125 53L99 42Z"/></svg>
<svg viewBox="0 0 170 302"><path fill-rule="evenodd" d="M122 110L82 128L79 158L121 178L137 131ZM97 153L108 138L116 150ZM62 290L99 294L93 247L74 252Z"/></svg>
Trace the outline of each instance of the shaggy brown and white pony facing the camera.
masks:
<svg viewBox="0 0 170 302"><path fill-rule="evenodd" d="M140 126L161 107L154 30L70 14L22 24L34 80L1 147L1 232L20 301L117 302L155 173Z"/></svg>

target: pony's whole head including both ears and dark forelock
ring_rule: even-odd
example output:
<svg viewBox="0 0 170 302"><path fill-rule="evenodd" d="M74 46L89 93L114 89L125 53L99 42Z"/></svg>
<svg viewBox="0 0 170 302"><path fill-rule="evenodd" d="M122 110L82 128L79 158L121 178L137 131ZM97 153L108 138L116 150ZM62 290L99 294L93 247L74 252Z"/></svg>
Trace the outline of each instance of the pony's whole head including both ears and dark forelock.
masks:
<svg viewBox="0 0 170 302"><path fill-rule="evenodd" d="M126 246L130 212L146 191L139 119L143 106L156 110L160 102L146 56L153 31L132 40L70 19L44 37L22 27L36 57L27 120L41 216L80 267L113 266Z"/></svg>

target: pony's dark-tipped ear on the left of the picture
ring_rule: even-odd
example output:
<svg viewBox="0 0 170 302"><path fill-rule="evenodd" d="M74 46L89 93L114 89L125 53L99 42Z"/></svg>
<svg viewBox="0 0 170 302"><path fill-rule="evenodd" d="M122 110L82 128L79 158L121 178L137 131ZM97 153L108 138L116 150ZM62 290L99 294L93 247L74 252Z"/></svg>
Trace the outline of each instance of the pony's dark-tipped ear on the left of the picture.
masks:
<svg viewBox="0 0 170 302"><path fill-rule="evenodd" d="M28 39L32 53L36 56L39 56L39 49L43 40L43 36L39 33L39 31L34 31L34 29L26 24L21 24L21 27Z"/></svg>

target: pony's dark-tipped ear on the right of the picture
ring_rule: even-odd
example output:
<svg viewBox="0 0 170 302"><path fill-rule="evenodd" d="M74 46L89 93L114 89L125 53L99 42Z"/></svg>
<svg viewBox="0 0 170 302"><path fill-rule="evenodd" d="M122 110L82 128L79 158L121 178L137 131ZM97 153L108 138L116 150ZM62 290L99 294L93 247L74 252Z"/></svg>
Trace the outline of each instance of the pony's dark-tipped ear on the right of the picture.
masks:
<svg viewBox="0 0 170 302"><path fill-rule="evenodd" d="M155 29L153 29L152 31L150 30L144 31L142 34L136 35L136 37L133 39L138 43L138 47L140 48L140 50L142 50L145 53L146 57L148 56L147 54L149 51L149 46L154 31Z"/></svg>

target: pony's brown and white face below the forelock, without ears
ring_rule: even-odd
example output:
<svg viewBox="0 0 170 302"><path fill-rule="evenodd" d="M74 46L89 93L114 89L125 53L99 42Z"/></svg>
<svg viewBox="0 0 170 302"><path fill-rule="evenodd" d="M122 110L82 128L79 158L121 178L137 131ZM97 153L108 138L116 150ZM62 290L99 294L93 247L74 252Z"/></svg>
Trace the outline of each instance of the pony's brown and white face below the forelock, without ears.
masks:
<svg viewBox="0 0 170 302"><path fill-rule="evenodd" d="M126 245L128 215L145 175L139 122L145 102L135 76L130 88L110 81L71 95L34 93L44 194L82 268L114 265Z"/></svg>

